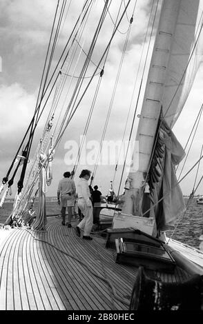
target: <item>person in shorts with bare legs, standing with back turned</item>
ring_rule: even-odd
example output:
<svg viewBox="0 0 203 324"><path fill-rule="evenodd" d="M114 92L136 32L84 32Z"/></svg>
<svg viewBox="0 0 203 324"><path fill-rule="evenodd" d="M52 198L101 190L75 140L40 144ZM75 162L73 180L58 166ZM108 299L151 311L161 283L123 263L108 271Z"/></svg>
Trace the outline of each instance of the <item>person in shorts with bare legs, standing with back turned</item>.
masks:
<svg viewBox="0 0 203 324"><path fill-rule="evenodd" d="M75 182L70 179L70 172L64 173L64 179L59 181L57 190L58 204L61 203L62 225L66 225L66 207L68 207L68 227L72 227L72 207L75 203ZM61 201L60 201L61 196Z"/></svg>

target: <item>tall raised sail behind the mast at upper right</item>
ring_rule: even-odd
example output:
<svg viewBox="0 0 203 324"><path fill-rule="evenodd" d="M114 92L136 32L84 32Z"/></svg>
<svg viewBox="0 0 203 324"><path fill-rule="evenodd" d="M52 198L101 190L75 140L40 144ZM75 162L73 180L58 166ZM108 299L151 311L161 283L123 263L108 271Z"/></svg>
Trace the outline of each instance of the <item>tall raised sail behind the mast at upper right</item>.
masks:
<svg viewBox="0 0 203 324"><path fill-rule="evenodd" d="M162 99L164 119L171 128L184 107L202 61L202 44L198 39L202 26L201 1L177 2L180 2L180 8Z"/></svg>

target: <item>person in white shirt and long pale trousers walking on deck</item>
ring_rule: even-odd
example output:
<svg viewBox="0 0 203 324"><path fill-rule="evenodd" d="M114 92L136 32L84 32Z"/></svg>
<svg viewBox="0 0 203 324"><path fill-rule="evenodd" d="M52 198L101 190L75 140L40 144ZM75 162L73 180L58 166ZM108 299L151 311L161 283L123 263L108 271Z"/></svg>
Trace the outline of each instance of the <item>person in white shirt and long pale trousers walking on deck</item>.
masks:
<svg viewBox="0 0 203 324"><path fill-rule="evenodd" d="M83 239L92 240L90 232L93 227L93 204L90 200L91 195L88 186L90 171L82 170L79 178L80 180L77 183L78 206L82 214L84 214L84 219L75 227L75 233L77 236L80 236L80 231L84 229Z"/></svg>

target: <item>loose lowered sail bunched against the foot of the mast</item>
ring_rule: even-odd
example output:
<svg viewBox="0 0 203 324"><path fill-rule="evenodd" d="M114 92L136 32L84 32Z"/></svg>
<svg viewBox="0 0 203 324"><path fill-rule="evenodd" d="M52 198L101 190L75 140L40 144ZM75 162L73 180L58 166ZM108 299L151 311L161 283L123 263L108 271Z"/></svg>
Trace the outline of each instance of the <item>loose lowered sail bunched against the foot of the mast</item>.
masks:
<svg viewBox="0 0 203 324"><path fill-rule="evenodd" d="M175 175L175 165L185 153L171 128L160 119L157 143L148 172L149 194L142 204L150 206L149 216L156 219L157 230L167 230L185 210L184 198Z"/></svg>

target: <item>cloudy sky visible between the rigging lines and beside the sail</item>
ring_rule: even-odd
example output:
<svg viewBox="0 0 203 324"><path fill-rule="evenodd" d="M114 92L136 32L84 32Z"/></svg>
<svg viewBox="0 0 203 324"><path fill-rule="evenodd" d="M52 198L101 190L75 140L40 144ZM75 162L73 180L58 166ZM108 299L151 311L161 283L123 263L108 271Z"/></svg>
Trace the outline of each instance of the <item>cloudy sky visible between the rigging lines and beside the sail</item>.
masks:
<svg viewBox="0 0 203 324"><path fill-rule="evenodd" d="M59 1L59 6L61 5L61 2L62 1ZM125 4L127 2L127 0L124 1ZM35 110L39 84L43 71L43 64L46 57L50 30L52 28L52 21L57 8L57 3L57 0L1 0L0 2L0 180L3 178L3 176L6 176L10 163L16 153L21 139L23 138L23 134L26 132L28 124L32 119L32 114ZM67 13L66 21L62 21L63 29L59 34L59 41L57 41L56 53L52 60L51 70L57 64L59 55L64 48L67 37L72 30L72 26L79 15L84 1L67 1L67 3L70 3L70 9ZM104 69L104 76L102 77L99 94L95 103L92 118L90 120L88 134L86 136L86 143L89 145L86 147L87 153L90 152L90 145L95 143L98 144L101 139L101 133L106 122L106 114L110 105L112 105L112 109L110 112L104 140L108 141L108 143L110 143L109 141L114 141L114 143L116 141L122 141L125 128L127 130L124 140L127 141L128 139L131 121L133 119L133 109L135 109L139 84L142 77L141 71L144 66L144 60L142 60L140 70L138 70L152 3L153 1L150 0L137 1L135 16L131 26L131 33L129 34L128 45L126 47L114 98L113 90L115 87L116 75L119 69L124 42L126 40L126 31L128 30L129 19L131 18L135 1L131 1L131 4L127 9L127 14L125 14L124 19L119 26L119 31L115 34L115 38L110 45L110 51L108 53ZM88 67L86 74L87 76L91 75L95 69L95 64L99 62L101 53L113 32L113 21L116 21L116 12L118 6L119 1L112 1L112 5L109 9L110 15L107 14L104 27L102 27L99 34L97 46L95 47L92 56L93 62ZM90 41L93 37L93 26L98 23L99 14L101 13L103 7L104 1L96 0L94 2L93 9L90 13L90 23L88 23L86 26L85 32L81 37L81 44L84 44L84 51L88 50ZM66 9L68 9L68 5ZM122 10L124 10L124 4L122 4ZM155 10L155 7L153 10ZM160 10L160 4L157 10ZM157 20L155 20L155 27L156 26ZM154 36L155 30L152 34L151 44L153 43ZM145 52L148 42L149 34L146 38L146 45L144 47ZM152 46L149 47L149 52L151 52L151 49ZM83 60L86 58L84 52L81 52L81 57L83 57ZM100 67L101 65L102 64L100 64ZM147 68L148 61L146 63L146 70L144 72L144 81L146 81ZM77 76L79 73L79 68L77 69L70 70L71 74ZM47 188L47 196L56 196L57 183L59 179L62 178L65 171L72 170L74 162L70 164L70 143L77 143L77 145L79 145L79 140L84 133L88 112L93 103L98 78L99 77L95 77L95 79L93 79L91 87L88 88L84 99L82 99L77 112L75 113L74 117L72 117L66 132L64 132L64 136L57 146L52 163L53 179L50 187ZM178 120L173 128L175 136L177 136L177 139L180 141L183 147L188 139L191 129L193 128L193 123L198 111L200 110L200 106L202 105L202 78L203 70L202 66L200 65L200 69L193 85L193 90L191 91L189 99L186 101L185 108L181 114L181 120ZM135 83L136 79L137 82ZM132 82L132 80L134 81ZM135 92L133 92L134 86ZM68 83L66 83L66 88L67 87ZM70 90L72 89L71 87L72 85L70 85ZM139 114L142 106L143 94L144 88L142 88L141 91L137 114ZM32 151L30 154L30 164L32 163L35 150L39 144L39 139L41 138L43 127L48 117L48 111L52 105L52 99L53 97L48 102L47 109L42 115L39 125L37 126ZM62 103L65 103L63 108L63 111L65 111L69 100L69 94L68 97L66 97L65 94L61 94L59 108L60 105L62 107ZM130 107L131 110L129 112L128 123L126 123L128 109ZM59 114L59 112L56 112L56 115L57 113ZM135 130L133 130L134 137L136 133L136 126L139 121L137 114L135 118ZM182 175L184 175L189 168L191 168L191 166L200 156L200 150L202 147L201 127L197 130L195 139L193 149L191 149L188 157L187 166L185 167L186 169ZM88 168L92 171L95 168L95 165L92 163L93 156L90 156L89 154L88 157L89 164L81 163L77 167L77 172L75 174L76 183L77 179L79 179L79 172L83 168ZM117 192L117 188L119 186L122 164L119 165L117 172L115 172L115 162L117 162L117 156L112 154L111 159L112 161L107 161L108 163L103 161L106 164L104 163L105 165L99 165L95 174L94 185L98 185L102 194L107 194L110 181L113 181L114 177L115 192ZM200 174L198 175L197 179L200 179L202 168L203 163L202 165L200 164ZM195 170L193 173L189 174L185 181L181 183L184 194L190 194L191 190L193 189ZM124 171L124 180L126 179L126 176L127 170ZM19 172L17 173L14 185L12 186L12 195L14 195L16 192L18 180ZM203 184L202 187L200 185L197 193L203 194Z"/></svg>

